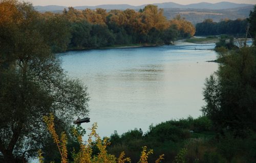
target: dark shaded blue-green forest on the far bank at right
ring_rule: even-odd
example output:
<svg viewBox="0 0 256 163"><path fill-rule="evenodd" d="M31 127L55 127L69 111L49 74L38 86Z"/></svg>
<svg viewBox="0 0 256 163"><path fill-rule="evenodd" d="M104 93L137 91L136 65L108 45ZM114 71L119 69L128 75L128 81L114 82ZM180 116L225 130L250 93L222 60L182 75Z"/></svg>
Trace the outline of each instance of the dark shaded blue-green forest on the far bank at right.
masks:
<svg viewBox="0 0 256 163"><path fill-rule="evenodd" d="M236 37L244 36L247 29L247 19L230 20L225 19L220 22L214 22L212 19L205 19L196 24L197 36L209 35L234 35Z"/></svg>

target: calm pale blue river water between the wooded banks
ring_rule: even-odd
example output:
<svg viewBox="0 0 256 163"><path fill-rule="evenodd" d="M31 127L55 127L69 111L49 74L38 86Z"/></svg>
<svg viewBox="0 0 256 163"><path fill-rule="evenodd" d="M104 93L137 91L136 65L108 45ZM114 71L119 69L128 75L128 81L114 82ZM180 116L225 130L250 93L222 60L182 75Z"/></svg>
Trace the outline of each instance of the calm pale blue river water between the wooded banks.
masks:
<svg viewBox="0 0 256 163"><path fill-rule="evenodd" d="M110 136L148 130L170 119L198 117L205 78L217 70L215 44L94 49L62 53L62 67L90 94L91 122ZM195 50L196 48L196 50Z"/></svg>

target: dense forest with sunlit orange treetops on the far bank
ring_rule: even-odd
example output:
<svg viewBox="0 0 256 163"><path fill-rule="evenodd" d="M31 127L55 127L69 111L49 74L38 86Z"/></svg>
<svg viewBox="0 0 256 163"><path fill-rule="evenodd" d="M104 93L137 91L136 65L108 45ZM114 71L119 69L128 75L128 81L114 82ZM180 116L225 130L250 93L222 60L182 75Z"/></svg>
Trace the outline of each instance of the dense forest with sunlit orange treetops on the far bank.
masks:
<svg viewBox="0 0 256 163"><path fill-rule="evenodd" d="M38 28L54 52L137 43L170 44L178 37L195 34L193 24L180 16L167 20L163 10L154 5L139 12L69 7L61 14L46 12L39 16Z"/></svg>

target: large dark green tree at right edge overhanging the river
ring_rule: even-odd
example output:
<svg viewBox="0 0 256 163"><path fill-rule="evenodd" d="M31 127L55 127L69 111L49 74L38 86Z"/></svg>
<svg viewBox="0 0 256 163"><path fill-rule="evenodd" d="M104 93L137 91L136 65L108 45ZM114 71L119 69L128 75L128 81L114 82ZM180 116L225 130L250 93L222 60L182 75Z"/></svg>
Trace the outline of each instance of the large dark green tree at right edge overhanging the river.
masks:
<svg viewBox="0 0 256 163"><path fill-rule="evenodd" d="M245 135L256 130L256 49L243 47L222 58L219 70L206 79L202 111L219 131Z"/></svg>

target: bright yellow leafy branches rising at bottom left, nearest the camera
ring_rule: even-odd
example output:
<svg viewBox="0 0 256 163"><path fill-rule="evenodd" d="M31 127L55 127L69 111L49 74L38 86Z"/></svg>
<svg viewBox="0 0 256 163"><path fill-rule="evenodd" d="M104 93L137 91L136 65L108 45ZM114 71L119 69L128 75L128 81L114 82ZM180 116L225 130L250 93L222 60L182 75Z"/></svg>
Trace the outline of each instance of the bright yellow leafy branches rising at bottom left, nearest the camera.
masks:
<svg viewBox="0 0 256 163"><path fill-rule="evenodd" d="M59 140L58 135L56 134L55 128L54 128L54 116L53 114L50 114L49 116L44 116L44 121L47 125L47 129L49 130L50 134L52 135L52 139L56 143L59 149L59 154L61 155L61 162L68 162L67 159L67 147L66 147L66 133L61 133L61 139ZM96 163L96 162L113 162L113 163L124 163L124 162L131 162L131 159L129 157L124 158L125 153L121 152L118 159L111 154L108 154L106 151L106 147L110 145L109 139L104 138L101 140L99 135L96 133L97 124L94 123L92 128L90 128L91 133L88 135L88 141L83 143L82 141L82 135L77 131L75 128L73 128L73 135L76 137L78 143L80 144L80 150L77 153L73 153L73 162L74 163ZM93 141L95 139L95 142ZM93 155L93 146L96 145L99 152L96 155ZM141 156L138 162L140 163L147 163L148 155L152 154L153 150L147 151L147 147L143 147ZM39 161L44 162L44 157L42 156L42 151L38 151L39 155ZM159 156L159 158L156 160L156 163L159 163L163 159L163 154Z"/></svg>

